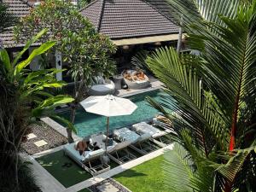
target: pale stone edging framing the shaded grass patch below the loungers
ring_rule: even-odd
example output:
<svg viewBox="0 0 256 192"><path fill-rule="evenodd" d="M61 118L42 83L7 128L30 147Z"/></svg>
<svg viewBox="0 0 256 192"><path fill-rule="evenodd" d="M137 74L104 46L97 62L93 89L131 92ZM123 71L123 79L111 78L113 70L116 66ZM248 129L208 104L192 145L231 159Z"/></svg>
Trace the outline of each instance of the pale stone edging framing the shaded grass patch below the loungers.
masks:
<svg viewBox="0 0 256 192"><path fill-rule="evenodd" d="M120 172L125 172L128 169L131 169L134 166L140 165L148 160L152 160L161 154L164 154L167 150L172 150L173 145L168 145L165 148L160 148L159 150L156 150L150 154L143 155L140 158L137 158L136 160L131 160L130 162L125 163L124 165L117 166L108 172L103 172L102 174L97 175L96 177L91 177L81 183L77 183L69 188L65 188L59 181L55 179L52 175L47 172L43 166L41 166L36 158L54 153L58 150L61 150L63 146L58 148L49 149L45 152L41 152L39 154L34 154L32 156L22 154L23 158L27 161L32 162L32 170L34 171L34 175L38 180L39 185L41 186L41 189L43 192L75 192L79 191L81 189L85 189L90 187L91 185L94 185L96 183L100 183L106 178L113 177L114 175L119 174Z"/></svg>

